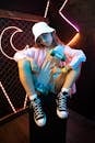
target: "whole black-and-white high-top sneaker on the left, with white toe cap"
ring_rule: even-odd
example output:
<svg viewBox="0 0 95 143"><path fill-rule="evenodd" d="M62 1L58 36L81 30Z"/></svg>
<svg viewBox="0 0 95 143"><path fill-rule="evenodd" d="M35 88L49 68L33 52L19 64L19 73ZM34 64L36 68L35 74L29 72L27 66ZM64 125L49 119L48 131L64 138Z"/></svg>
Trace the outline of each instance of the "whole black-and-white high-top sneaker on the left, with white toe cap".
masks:
<svg viewBox="0 0 95 143"><path fill-rule="evenodd" d="M46 124L46 114L43 111L40 99L35 98L31 101L29 108L34 110L34 120L38 127L44 127Z"/></svg>

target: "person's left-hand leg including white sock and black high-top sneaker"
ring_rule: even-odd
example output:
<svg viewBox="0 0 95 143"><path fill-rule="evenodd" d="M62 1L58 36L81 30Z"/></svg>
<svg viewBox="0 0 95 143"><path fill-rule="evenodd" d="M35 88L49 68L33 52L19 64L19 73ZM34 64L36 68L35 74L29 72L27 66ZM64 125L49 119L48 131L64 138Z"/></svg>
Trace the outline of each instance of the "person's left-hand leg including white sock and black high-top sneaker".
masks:
<svg viewBox="0 0 95 143"><path fill-rule="evenodd" d="M44 127L46 124L46 114L43 111L40 99L35 91L29 61L22 59L19 62L19 74L20 80L31 100L29 107L34 110L34 120L38 127Z"/></svg>

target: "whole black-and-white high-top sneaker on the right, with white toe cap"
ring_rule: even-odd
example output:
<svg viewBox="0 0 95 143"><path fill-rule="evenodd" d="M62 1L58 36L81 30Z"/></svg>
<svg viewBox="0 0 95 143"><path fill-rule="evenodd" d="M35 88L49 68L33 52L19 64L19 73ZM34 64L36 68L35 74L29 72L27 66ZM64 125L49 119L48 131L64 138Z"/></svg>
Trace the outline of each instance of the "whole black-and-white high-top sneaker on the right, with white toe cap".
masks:
<svg viewBox="0 0 95 143"><path fill-rule="evenodd" d="M67 101L68 101L68 92L60 91L57 96L57 116L61 119L68 118Z"/></svg>

